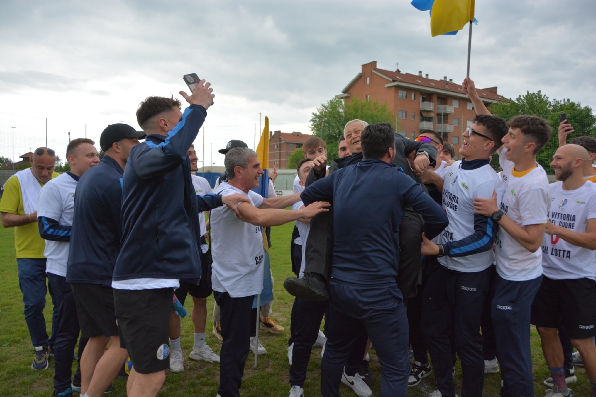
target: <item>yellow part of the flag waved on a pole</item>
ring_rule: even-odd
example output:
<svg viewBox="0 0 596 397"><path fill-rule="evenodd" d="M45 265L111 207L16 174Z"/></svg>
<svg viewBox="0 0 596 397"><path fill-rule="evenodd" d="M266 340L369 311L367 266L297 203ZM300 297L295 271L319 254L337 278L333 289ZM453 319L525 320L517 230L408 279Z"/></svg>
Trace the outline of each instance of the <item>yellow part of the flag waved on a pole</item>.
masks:
<svg viewBox="0 0 596 397"><path fill-rule="evenodd" d="M434 37L457 32L473 20L474 0L434 0L430 12L430 34Z"/></svg>

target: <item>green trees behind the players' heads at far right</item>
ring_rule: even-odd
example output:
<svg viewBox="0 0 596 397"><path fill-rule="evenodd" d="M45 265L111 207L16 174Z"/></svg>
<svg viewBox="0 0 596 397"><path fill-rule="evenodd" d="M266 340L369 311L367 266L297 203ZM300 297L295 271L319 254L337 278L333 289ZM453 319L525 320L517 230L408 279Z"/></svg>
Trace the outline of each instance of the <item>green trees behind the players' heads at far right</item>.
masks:
<svg viewBox="0 0 596 397"><path fill-rule="evenodd" d="M596 116L592 114L592 109L589 106L582 107L579 102L573 102L569 99L562 101L556 99L550 100L541 91L528 91L526 95L519 95L515 100L494 104L490 110L492 114L506 121L518 114L539 116L548 120L552 128L552 136L550 141L538 153L536 160L550 174L554 173L550 167L552 155L558 148L557 130L560 123L558 120L559 113L567 114L569 123L575 129L575 132L567 137L567 141L581 135L596 136ZM498 164L498 155L493 154L492 166L498 167Z"/></svg>

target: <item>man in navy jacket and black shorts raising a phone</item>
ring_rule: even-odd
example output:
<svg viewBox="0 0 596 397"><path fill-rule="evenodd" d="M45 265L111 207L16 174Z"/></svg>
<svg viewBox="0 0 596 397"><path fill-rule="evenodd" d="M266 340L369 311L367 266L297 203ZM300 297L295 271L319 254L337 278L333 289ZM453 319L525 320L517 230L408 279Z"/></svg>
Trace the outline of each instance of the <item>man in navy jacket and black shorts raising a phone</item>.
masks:
<svg viewBox="0 0 596 397"><path fill-rule="evenodd" d="M122 248L112 278L123 348L134 371L129 396L156 395L169 367L169 318L179 279L200 278L198 212L246 198L197 196L187 150L213 98L201 81L184 114L178 100L150 97L136 116L148 134L131 149L122 184Z"/></svg>

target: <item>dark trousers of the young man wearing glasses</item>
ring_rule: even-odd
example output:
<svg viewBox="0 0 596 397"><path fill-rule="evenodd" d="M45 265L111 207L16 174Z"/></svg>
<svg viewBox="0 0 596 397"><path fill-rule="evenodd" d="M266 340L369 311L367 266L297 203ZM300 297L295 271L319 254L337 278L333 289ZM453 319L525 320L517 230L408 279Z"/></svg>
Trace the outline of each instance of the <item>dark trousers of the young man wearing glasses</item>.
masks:
<svg viewBox="0 0 596 397"><path fill-rule="evenodd" d="M462 397L482 396L484 358L480 320L489 280L490 268L464 273L441 266L429 277L424 289L421 327L433 362L437 389L443 397L455 396L453 333L463 373Z"/></svg>

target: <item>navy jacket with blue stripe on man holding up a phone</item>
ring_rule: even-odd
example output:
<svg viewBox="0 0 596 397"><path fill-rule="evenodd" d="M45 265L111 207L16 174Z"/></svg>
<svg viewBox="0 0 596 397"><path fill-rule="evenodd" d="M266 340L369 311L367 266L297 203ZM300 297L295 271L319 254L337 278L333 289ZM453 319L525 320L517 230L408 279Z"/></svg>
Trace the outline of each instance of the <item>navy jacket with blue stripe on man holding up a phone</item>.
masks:
<svg viewBox="0 0 596 397"><path fill-rule="evenodd" d="M122 248L113 280L184 278L201 274L198 213L221 206L221 196L197 196L188 148L207 112L191 105L163 135L147 135L126 163L122 182Z"/></svg>

